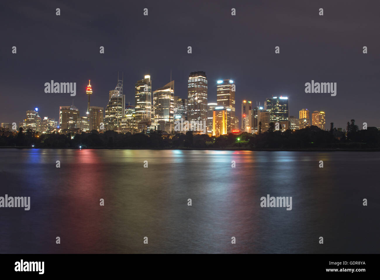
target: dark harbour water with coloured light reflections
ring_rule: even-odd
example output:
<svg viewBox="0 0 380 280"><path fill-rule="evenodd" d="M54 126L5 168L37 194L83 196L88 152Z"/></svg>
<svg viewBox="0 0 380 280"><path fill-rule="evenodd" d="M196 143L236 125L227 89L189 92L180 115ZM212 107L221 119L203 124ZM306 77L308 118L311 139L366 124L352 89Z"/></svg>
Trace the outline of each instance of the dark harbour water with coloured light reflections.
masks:
<svg viewBox="0 0 380 280"><path fill-rule="evenodd" d="M0 253L379 253L379 166L378 152L0 149L0 196L31 201L0 208ZM261 208L267 194L293 209Z"/></svg>

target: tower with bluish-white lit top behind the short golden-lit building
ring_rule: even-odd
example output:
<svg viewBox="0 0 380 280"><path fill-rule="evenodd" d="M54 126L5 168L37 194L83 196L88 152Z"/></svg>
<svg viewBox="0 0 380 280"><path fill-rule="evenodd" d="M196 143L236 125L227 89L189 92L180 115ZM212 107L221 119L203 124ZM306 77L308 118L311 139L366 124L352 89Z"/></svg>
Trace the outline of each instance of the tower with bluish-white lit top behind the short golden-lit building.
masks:
<svg viewBox="0 0 380 280"><path fill-rule="evenodd" d="M218 107L231 109L230 119L227 120L228 131L238 128L239 120L235 117L235 84L233 80L219 80L217 82L217 104Z"/></svg>

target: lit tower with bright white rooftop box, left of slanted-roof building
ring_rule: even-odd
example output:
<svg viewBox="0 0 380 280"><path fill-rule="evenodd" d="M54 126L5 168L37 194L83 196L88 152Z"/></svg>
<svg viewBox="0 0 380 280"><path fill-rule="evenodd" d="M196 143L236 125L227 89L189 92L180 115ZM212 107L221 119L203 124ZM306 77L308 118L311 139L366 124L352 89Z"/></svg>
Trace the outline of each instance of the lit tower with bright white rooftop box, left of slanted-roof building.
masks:
<svg viewBox="0 0 380 280"><path fill-rule="evenodd" d="M135 118L136 122L152 120L152 80L150 75L137 81L135 85Z"/></svg>

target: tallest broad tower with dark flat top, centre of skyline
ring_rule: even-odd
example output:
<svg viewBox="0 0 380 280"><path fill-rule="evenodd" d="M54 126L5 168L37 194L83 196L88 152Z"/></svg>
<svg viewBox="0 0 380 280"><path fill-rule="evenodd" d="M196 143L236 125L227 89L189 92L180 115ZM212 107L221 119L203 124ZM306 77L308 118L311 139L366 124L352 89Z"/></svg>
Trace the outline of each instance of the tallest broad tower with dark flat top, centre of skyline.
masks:
<svg viewBox="0 0 380 280"><path fill-rule="evenodd" d="M207 124L207 76L206 72L191 72L187 80L187 120L205 121Z"/></svg>

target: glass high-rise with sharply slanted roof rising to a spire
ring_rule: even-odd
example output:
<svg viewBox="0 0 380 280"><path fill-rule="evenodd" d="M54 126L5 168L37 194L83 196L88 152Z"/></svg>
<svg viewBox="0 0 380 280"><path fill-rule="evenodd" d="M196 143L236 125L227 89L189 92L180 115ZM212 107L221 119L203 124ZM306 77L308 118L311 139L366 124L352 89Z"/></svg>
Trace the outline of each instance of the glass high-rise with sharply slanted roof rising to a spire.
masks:
<svg viewBox="0 0 380 280"><path fill-rule="evenodd" d="M174 81L153 91L153 107L157 130L171 134L174 124Z"/></svg>

